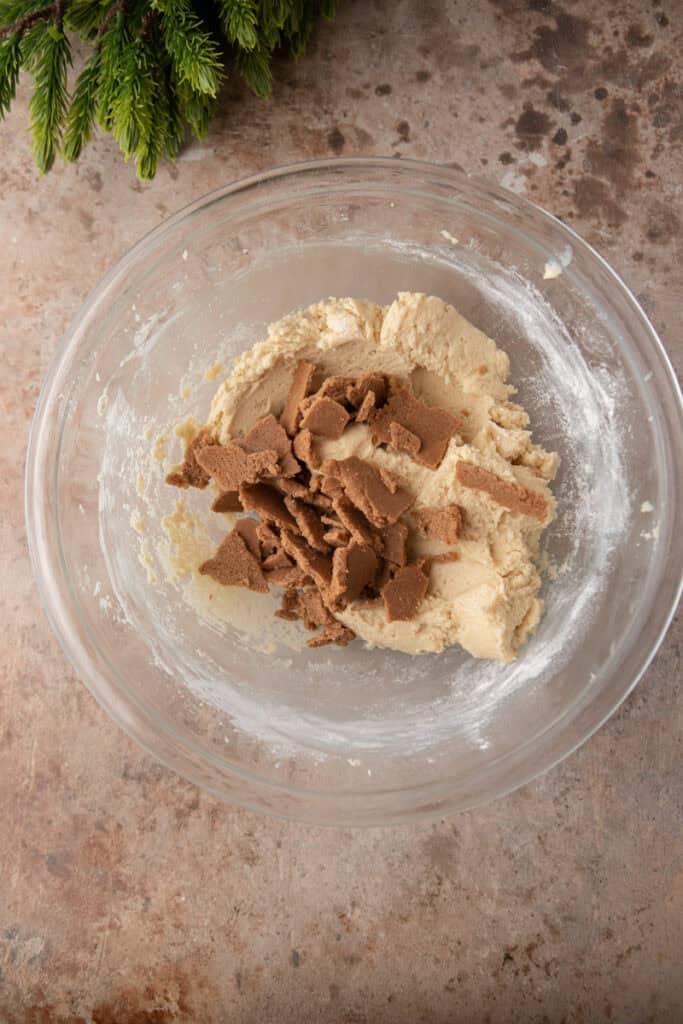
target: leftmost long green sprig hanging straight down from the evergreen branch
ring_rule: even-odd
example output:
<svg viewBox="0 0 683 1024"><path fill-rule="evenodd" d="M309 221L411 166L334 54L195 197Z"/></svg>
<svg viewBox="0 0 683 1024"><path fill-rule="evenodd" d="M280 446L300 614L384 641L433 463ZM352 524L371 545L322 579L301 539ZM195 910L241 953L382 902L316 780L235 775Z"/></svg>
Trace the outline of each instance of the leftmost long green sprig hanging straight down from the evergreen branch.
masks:
<svg viewBox="0 0 683 1024"><path fill-rule="evenodd" d="M36 32L36 29L33 31ZM42 25L38 31L41 38L32 50L31 70L35 86L29 111L34 157L38 169L45 174L54 163L67 114L67 71L71 65L71 46L56 25Z"/></svg>

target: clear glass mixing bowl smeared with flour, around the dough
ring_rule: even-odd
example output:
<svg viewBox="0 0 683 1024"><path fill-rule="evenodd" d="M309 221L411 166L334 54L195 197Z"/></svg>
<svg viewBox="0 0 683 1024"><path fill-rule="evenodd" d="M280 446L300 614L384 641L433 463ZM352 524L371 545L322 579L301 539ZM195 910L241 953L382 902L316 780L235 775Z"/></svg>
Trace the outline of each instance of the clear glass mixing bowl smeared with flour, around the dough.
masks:
<svg viewBox="0 0 683 1024"><path fill-rule="evenodd" d="M441 296L498 341L535 439L562 457L546 613L510 665L455 648L301 649L265 604L225 622L167 571L172 426L206 418L219 373L207 369L297 306L401 290ZM440 167L302 164L198 201L85 302L31 435L33 566L86 685L187 778L294 819L438 816L546 770L635 686L680 589L682 452L661 344L570 229ZM186 500L219 518L207 493ZM208 529L217 542L225 525Z"/></svg>

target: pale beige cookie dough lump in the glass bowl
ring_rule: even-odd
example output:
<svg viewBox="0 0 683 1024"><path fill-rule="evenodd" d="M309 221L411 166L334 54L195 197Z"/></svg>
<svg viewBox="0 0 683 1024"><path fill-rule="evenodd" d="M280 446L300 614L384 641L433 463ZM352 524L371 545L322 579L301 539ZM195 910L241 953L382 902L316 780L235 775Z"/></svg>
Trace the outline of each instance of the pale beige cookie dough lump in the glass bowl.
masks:
<svg viewBox="0 0 683 1024"><path fill-rule="evenodd" d="M221 443L259 417L281 414L292 370L302 358L326 376L378 370L408 377L418 397L453 412L462 424L436 470L375 447L365 425L351 426L339 440L316 438L325 459L355 455L396 473L416 508L456 503L465 512L459 559L432 565L429 592L415 618L389 623L381 606L349 606L339 620L371 645L417 654L458 643L476 657L510 660L543 611L535 559L541 532L555 515L549 481L559 459L531 441L526 413L510 400L506 353L434 296L401 292L388 307L328 299L271 325L266 339L237 360L211 407L208 426ZM460 484L456 466L463 459L539 492L545 519L512 513ZM417 557L445 550L419 537L412 544Z"/></svg>

